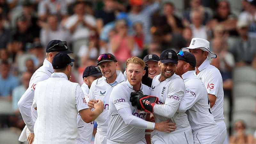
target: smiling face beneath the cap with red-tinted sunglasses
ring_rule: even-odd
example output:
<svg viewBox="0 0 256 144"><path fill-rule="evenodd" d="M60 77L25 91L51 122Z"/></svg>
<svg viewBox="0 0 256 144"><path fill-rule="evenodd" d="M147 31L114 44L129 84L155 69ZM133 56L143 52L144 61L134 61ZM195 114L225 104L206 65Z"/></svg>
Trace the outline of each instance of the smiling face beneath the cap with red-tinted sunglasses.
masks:
<svg viewBox="0 0 256 144"><path fill-rule="evenodd" d="M108 83L112 83L112 81L114 82L116 79L116 67L117 67L118 63L115 61L104 61L100 63L100 70L103 74L103 76L105 76L107 78L107 82Z"/></svg>

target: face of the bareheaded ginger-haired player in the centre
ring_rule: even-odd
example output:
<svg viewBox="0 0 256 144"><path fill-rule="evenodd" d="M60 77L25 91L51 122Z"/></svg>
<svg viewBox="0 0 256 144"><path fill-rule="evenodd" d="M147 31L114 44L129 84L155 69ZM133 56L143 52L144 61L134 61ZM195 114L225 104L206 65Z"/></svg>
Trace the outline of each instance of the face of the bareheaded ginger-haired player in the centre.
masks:
<svg viewBox="0 0 256 144"><path fill-rule="evenodd" d="M140 64L129 63L125 69L127 80L132 86L137 86L141 83L142 76L145 75L146 70Z"/></svg>

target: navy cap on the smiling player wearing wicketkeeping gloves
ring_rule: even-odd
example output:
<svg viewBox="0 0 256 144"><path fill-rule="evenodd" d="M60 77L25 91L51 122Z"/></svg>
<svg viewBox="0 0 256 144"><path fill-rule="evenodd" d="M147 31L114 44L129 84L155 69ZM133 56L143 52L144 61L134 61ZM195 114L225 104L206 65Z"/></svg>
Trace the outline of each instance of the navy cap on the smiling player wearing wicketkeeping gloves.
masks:
<svg viewBox="0 0 256 144"><path fill-rule="evenodd" d="M161 63L178 63L178 56L177 53L173 50L164 50L160 55L160 62Z"/></svg>

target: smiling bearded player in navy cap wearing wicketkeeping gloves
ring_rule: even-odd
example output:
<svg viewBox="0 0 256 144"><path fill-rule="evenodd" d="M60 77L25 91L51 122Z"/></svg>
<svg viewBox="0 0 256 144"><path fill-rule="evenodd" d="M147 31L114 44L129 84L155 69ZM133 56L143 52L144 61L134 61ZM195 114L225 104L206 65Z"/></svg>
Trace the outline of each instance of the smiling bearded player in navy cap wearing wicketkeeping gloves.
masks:
<svg viewBox="0 0 256 144"><path fill-rule="evenodd" d="M158 66L161 74L154 77L151 95L159 98L154 106L155 122L169 120L176 123L177 129L171 133L157 132L152 137L155 144L193 144L193 134L188 116L185 112L179 112L180 100L185 94L185 85L180 76L175 74L178 63L177 53L173 50L165 50L160 55ZM154 88L154 89L153 89Z"/></svg>

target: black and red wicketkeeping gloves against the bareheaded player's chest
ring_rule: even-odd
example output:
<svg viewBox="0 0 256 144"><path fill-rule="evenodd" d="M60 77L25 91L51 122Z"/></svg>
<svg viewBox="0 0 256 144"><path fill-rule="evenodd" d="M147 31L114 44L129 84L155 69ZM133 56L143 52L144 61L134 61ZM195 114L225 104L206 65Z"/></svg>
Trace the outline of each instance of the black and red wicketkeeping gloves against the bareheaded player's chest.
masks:
<svg viewBox="0 0 256 144"><path fill-rule="evenodd" d="M158 102L158 97L151 95L143 95L141 91L131 93L130 101L132 106L136 106L139 110L145 110L149 113L154 112L154 105Z"/></svg>

